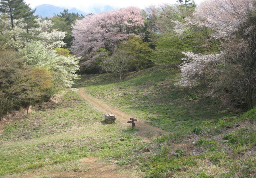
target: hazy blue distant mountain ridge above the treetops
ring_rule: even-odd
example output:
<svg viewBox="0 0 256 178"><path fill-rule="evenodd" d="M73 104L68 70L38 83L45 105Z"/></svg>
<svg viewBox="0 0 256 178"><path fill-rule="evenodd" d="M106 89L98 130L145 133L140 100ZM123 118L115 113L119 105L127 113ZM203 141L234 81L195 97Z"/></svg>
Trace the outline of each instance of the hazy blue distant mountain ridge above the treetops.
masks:
<svg viewBox="0 0 256 178"><path fill-rule="evenodd" d="M81 11L76 8L65 8L65 7L53 6L50 4L42 4L36 7L35 14L42 17L52 17L54 16L54 14L60 14L60 12L63 12L64 9L68 9L68 12L74 12L74 13L86 15L89 13L98 14L100 12L108 12L110 10L113 10L114 8L112 8L111 6L94 5L94 6L89 6L84 11Z"/></svg>

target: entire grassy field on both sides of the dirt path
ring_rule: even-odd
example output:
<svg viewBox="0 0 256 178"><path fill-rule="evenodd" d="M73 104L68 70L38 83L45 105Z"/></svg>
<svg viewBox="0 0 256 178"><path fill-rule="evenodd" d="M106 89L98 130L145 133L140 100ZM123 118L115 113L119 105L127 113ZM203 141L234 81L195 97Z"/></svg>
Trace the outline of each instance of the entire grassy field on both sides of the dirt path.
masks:
<svg viewBox="0 0 256 178"><path fill-rule="evenodd" d="M0 176L86 177L81 160L93 157L130 177L255 177L256 108L236 115L199 97L200 87L174 85L178 77L177 69L160 67L127 73L122 83L113 74L81 76L74 87L170 134L144 142L127 124L103 124L102 112L68 91L58 103L1 123Z"/></svg>

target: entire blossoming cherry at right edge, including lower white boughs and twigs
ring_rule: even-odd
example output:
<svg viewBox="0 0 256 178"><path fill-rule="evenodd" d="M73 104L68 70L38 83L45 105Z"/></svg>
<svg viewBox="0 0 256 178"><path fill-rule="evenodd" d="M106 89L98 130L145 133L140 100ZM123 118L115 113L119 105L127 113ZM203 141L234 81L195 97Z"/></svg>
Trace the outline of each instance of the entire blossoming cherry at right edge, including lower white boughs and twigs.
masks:
<svg viewBox="0 0 256 178"><path fill-rule="evenodd" d="M220 42L219 54L184 53L177 83L193 87L203 81L211 96L243 109L256 106L256 3L255 0L206 0L178 32L204 26ZM179 29L177 29L179 30Z"/></svg>

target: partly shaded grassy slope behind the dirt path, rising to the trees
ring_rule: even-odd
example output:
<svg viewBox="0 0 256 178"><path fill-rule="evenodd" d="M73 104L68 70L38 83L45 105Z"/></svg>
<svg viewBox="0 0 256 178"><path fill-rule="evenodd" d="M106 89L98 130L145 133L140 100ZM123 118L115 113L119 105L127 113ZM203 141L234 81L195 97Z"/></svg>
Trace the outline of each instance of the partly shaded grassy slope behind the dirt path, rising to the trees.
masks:
<svg viewBox="0 0 256 178"><path fill-rule="evenodd" d="M75 86L167 131L191 131L202 121L233 115L218 101L200 97L203 87L184 89L175 85L178 79L178 69L152 67L128 73L123 82L113 74L84 75Z"/></svg>

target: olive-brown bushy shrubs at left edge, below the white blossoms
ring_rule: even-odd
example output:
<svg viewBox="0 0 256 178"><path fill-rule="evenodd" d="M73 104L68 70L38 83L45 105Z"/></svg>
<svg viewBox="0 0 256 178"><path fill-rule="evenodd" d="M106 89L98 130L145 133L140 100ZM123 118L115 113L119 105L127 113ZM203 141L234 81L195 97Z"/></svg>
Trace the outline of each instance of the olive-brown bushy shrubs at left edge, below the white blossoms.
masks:
<svg viewBox="0 0 256 178"><path fill-rule="evenodd" d="M52 73L44 67L23 65L21 57L15 51L0 54L0 117L52 94Z"/></svg>

